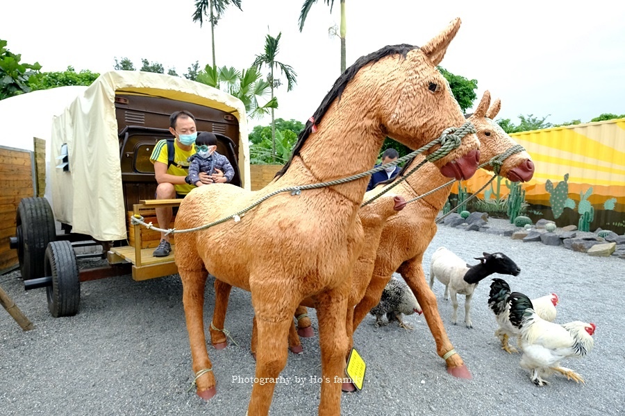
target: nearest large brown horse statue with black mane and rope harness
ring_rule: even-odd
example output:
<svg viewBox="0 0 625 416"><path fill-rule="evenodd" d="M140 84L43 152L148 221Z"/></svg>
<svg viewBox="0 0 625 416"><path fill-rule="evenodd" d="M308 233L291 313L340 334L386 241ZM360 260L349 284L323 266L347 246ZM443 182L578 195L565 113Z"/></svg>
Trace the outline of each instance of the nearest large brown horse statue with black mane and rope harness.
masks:
<svg viewBox="0 0 625 416"><path fill-rule="evenodd" d="M387 136L419 148L445 129L460 127L465 118L436 69L459 27L460 19L452 21L420 49L406 44L386 46L356 60L335 82L313 121L306 123L278 180L256 192L228 184L194 189L180 205L176 229L224 218L278 189L367 171ZM476 171L478 146L476 136L467 135L460 147L434 164L458 179L470 177ZM341 155L340 163L337 155ZM288 356L293 313L308 297L315 301L319 320L323 379L319 415L340 415L340 381L348 347L349 273L364 243L358 208L367 180L363 177L300 195L280 193L240 221L177 234L176 265L183 283L200 397L210 399L216 392L203 323L208 271L220 281L251 292L258 330L256 378L267 383L254 383L249 415L269 412L273 381Z"/></svg>

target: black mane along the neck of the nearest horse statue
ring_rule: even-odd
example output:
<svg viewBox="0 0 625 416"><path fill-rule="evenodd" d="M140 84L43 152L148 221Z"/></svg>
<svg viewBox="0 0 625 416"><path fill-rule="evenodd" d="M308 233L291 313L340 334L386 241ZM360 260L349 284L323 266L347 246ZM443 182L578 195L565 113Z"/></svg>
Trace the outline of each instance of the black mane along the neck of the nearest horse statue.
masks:
<svg viewBox="0 0 625 416"><path fill-rule="evenodd" d="M291 166L293 158L299 155L299 151L303 147L303 144L306 143L306 139L308 139L308 136L310 136L310 132L312 132L313 130L313 124L318 125L319 123L321 123L330 105L336 98L340 100L341 94L343 94L345 87L347 87L349 81L351 81L353 77L356 76L356 73L358 73L360 69L362 69L365 65L369 63L378 62L378 60L381 60L382 58L385 58L389 55L399 54L403 58L406 58L408 52L412 51L412 49L417 49L418 47L419 46L413 46L409 44L384 46L378 51L369 53L369 55L361 56L360 58L358 58L358 60L356 60L356 62L351 65L351 67L347 68L341 74L341 76L337 78L328 94L326 94L326 96L324 97L321 105L319 105L319 108L317 108L317 111L315 111L315 114L313 114L313 120L315 120L315 122L312 123L310 121L306 121L306 127L304 127L304 129L301 130L301 132L299 133L299 136L297 137L297 143L293 148L293 153L289 161L284 165L283 168L281 168L280 171L278 171L278 173L276 173L276 177L284 175L284 173L288 170L289 166Z"/></svg>

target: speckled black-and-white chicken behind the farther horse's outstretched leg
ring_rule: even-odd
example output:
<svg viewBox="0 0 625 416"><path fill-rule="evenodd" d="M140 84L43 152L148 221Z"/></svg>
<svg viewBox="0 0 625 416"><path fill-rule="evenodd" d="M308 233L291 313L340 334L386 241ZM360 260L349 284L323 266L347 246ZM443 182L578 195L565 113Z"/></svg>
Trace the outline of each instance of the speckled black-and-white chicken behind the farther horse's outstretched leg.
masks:
<svg viewBox="0 0 625 416"><path fill-rule="evenodd" d="M392 278L382 292L380 303L369 313L376 317L376 327L385 325L382 317L386 314L389 323L397 320L399 327L410 330L412 326L403 322L401 315L412 315L415 312L419 315L423 313L415 295L403 281Z"/></svg>

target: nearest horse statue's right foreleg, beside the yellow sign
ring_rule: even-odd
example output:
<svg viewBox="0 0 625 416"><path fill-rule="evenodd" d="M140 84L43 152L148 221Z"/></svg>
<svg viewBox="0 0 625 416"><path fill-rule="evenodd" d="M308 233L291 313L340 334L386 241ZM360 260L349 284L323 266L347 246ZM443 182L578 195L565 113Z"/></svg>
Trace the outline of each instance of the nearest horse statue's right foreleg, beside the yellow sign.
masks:
<svg viewBox="0 0 625 416"><path fill-rule="evenodd" d="M338 416L341 413L341 385L346 378L345 356L348 343L345 321L349 288L345 286L315 296L322 356L319 416Z"/></svg>

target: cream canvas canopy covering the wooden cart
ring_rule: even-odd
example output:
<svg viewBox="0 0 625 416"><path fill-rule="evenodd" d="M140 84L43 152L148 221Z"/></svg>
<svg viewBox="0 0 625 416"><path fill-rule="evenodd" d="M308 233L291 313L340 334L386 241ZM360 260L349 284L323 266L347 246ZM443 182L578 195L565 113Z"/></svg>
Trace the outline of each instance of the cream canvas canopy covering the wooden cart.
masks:
<svg viewBox="0 0 625 416"><path fill-rule="evenodd" d="M250 189L247 119L245 107L238 98L185 78L140 71L110 71L99 76L53 119L48 180L56 220L72 225L72 232L87 234L99 241L127 238L127 207L120 162L124 149L120 146L116 108L119 103L127 103L128 96L138 97L137 101L143 97L164 98L169 103L180 103L180 110L191 105L195 109L201 106L219 110L219 114L231 114L222 118L238 120L239 137L231 139L238 141L240 184ZM133 124L133 116L141 121L143 114L147 120L149 109L143 110L139 113L126 111L126 125ZM160 130L166 131L167 127ZM198 130L202 130L200 125Z"/></svg>

